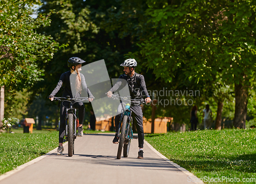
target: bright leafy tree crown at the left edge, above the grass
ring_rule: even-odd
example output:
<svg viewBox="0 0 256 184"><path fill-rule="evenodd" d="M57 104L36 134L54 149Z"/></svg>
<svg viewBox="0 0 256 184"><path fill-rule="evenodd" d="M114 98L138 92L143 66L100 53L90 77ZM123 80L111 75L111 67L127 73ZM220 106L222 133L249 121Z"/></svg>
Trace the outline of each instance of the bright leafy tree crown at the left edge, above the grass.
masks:
<svg viewBox="0 0 256 184"><path fill-rule="evenodd" d="M38 28L50 24L51 13L32 18L35 2L0 2L0 86L11 90L18 91L42 80L42 63L49 62L59 48L51 36L37 33Z"/></svg>

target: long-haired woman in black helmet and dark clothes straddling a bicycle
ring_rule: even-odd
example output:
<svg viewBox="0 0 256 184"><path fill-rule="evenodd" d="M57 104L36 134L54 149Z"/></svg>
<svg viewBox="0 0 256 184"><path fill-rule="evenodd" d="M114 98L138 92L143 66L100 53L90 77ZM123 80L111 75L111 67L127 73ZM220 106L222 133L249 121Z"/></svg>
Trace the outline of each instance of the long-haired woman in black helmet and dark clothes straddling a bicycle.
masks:
<svg viewBox="0 0 256 184"><path fill-rule="evenodd" d="M71 98L80 97L83 91L86 91L89 96L89 101L93 100L93 95L91 91L88 89L86 85L86 81L81 71L82 63L86 63L80 58L72 57L68 60L68 67L70 68L69 71L62 73L59 82L55 89L50 94L49 98L51 100L54 99L54 96L60 90L61 86L63 86L63 93L62 97L70 96ZM73 96L72 94L75 94ZM63 101L60 106L60 125L59 125L59 146L57 148L57 154L63 154L63 137L65 135L65 116L66 116L66 107L69 107L68 101ZM77 101L74 103L73 107L78 109L78 119L79 119L79 126L78 126L78 137L83 136L82 132L82 123L85 115L84 105L81 101Z"/></svg>

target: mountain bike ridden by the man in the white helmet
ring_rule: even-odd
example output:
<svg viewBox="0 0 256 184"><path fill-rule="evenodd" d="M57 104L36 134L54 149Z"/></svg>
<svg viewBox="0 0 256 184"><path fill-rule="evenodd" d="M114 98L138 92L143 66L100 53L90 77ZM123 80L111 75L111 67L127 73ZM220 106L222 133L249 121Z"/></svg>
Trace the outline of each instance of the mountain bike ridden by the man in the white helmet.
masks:
<svg viewBox="0 0 256 184"><path fill-rule="evenodd" d="M143 99L131 99L129 100L129 96L121 97L118 94L113 95L113 99L118 99L122 101L122 112L121 117L118 124L117 138L119 139L119 145L117 150L117 159L121 159L122 148L123 148L123 157L128 157L130 145L132 139L138 139L137 136L133 135L133 117L132 110L130 109L130 103L132 101L139 101L140 103L144 103ZM124 105L125 104L125 105Z"/></svg>

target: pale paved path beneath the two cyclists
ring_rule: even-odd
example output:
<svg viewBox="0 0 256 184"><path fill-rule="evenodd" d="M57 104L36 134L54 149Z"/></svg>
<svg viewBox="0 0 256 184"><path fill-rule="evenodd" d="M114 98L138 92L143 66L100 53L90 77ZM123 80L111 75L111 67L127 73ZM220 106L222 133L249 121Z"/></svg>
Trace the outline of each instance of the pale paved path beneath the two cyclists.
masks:
<svg viewBox="0 0 256 184"><path fill-rule="evenodd" d="M117 160L118 145L112 143L113 138L114 134L84 134L75 140L72 157L65 144L63 155L57 155L55 149L0 183L195 183L188 182L188 177L196 178L194 175L163 159L149 144L144 144L144 159L137 159L138 140L132 140L129 157Z"/></svg>

